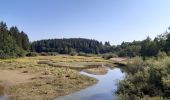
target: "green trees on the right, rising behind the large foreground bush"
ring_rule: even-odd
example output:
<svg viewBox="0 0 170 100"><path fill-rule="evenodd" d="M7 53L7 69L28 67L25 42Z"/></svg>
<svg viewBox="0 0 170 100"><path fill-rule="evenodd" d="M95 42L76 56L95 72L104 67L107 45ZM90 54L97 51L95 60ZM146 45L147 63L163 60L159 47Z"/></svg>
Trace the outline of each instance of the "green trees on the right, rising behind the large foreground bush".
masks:
<svg viewBox="0 0 170 100"><path fill-rule="evenodd" d="M143 41L122 42L114 48L114 53L121 57L146 57L157 56L159 52L170 53L170 33L165 32L153 40L148 36Z"/></svg>

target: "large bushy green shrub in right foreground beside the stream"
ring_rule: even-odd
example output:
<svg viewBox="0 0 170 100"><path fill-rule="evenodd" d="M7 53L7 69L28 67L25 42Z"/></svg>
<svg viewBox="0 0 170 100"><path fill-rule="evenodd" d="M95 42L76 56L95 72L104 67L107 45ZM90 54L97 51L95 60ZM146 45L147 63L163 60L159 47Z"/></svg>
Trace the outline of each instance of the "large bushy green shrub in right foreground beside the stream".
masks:
<svg viewBox="0 0 170 100"><path fill-rule="evenodd" d="M166 100L170 98L170 57L143 61L137 57L131 60L127 76L121 81L117 93L123 100ZM148 96L148 97L147 97Z"/></svg>

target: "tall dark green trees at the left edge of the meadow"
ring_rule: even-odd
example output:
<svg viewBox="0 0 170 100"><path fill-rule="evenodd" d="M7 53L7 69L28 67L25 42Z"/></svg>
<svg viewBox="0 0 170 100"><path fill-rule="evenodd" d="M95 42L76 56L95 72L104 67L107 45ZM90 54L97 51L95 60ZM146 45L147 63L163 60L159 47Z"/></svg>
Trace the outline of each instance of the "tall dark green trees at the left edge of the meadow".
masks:
<svg viewBox="0 0 170 100"><path fill-rule="evenodd" d="M28 36L13 26L8 29L6 23L0 22L0 58L20 57L30 50Z"/></svg>

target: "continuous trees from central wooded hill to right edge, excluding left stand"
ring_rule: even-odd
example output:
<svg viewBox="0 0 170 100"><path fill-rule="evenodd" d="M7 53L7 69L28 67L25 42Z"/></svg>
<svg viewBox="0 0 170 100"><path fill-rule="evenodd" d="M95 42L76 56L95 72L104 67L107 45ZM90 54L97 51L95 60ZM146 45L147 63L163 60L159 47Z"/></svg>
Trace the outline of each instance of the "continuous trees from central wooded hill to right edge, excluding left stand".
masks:
<svg viewBox="0 0 170 100"><path fill-rule="evenodd" d="M58 52L69 54L71 52L84 52L92 54L113 53L120 57L146 57L157 56L159 52L170 52L170 33L165 32L153 40L148 36L142 41L122 42L121 45L110 45L109 42L99 42L92 39L48 39L34 41L31 44L32 51Z"/></svg>

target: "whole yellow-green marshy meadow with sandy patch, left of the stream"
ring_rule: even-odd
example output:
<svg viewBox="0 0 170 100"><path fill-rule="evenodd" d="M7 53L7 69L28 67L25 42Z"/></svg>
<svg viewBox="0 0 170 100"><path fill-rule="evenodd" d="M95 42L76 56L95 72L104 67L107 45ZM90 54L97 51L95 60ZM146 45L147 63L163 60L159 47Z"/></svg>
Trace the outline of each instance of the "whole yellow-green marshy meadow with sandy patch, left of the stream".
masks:
<svg viewBox="0 0 170 100"><path fill-rule="evenodd" d="M103 73L102 65L113 66L101 57L68 55L0 60L0 85L12 100L51 100L95 84L79 70Z"/></svg>

